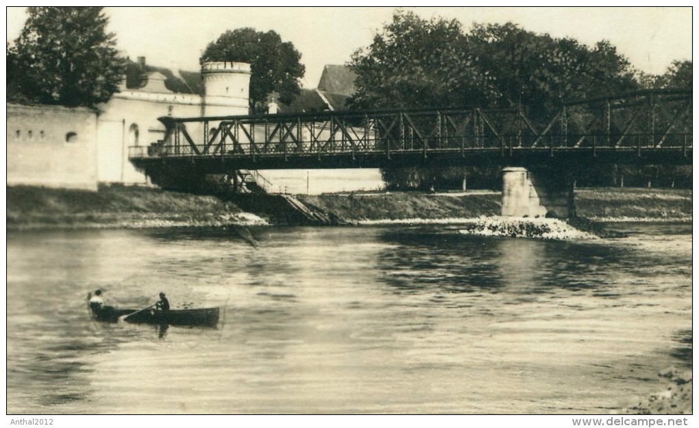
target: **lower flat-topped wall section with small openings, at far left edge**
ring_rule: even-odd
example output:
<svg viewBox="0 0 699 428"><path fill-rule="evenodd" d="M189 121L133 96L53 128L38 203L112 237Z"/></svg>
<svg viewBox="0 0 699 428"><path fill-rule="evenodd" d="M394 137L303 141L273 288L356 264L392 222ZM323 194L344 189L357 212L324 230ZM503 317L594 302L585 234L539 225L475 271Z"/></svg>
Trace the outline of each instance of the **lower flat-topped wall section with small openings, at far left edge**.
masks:
<svg viewBox="0 0 699 428"><path fill-rule="evenodd" d="M7 185L97 189L97 112L7 104Z"/></svg>

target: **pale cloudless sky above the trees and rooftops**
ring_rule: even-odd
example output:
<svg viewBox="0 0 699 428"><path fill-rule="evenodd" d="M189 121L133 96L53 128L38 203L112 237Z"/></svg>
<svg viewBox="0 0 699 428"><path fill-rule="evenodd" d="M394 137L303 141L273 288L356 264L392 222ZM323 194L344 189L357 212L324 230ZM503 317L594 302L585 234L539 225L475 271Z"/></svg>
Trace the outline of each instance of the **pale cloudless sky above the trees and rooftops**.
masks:
<svg viewBox="0 0 699 428"><path fill-rule="evenodd" d="M647 73L663 73L675 59L692 59L690 7L403 9L426 19L456 18L464 29L473 23L511 21L529 31L570 36L586 45L606 39ZM124 55L187 71L199 69L201 52L226 30L272 29L301 52L306 67L302 83L308 88L317 87L324 65L344 64L352 52L370 45L393 12L394 8L370 7L106 8L109 30L116 34ZM8 41L20 34L26 17L25 8L7 9Z"/></svg>

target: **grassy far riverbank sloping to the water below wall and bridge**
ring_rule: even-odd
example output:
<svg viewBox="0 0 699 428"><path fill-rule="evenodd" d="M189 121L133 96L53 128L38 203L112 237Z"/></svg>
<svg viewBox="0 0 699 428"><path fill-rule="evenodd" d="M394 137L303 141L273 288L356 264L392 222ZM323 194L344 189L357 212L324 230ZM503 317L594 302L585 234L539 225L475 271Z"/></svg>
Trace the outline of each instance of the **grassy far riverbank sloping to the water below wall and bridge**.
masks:
<svg viewBox="0 0 699 428"><path fill-rule="evenodd" d="M500 214L500 192L370 192L298 195L339 224L469 224ZM593 221L691 222L691 190L577 190L580 217ZM217 197L151 187L102 185L97 192L7 187L7 228L216 227L275 224Z"/></svg>

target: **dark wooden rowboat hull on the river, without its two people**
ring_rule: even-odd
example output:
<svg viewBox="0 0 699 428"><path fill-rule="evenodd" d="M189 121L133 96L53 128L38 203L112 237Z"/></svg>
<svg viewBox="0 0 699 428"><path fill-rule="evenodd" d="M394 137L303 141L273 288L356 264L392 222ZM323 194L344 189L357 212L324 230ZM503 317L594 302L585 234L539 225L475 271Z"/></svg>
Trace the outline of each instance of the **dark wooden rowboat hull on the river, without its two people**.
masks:
<svg viewBox="0 0 699 428"><path fill-rule="evenodd" d="M118 309L113 306L92 308L94 319L104 322L118 322L123 319L134 324L159 324L192 327L215 327L219 320L219 308L173 309L160 311L153 308Z"/></svg>

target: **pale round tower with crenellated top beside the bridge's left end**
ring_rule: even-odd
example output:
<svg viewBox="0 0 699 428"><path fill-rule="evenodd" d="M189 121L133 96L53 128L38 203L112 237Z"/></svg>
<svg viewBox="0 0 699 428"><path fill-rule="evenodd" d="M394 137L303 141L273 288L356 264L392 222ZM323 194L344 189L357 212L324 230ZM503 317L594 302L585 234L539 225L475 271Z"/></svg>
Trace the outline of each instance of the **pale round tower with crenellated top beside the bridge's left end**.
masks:
<svg viewBox="0 0 699 428"><path fill-rule="evenodd" d="M205 62L204 116L247 115L250 106L250 64L245 62Z"/></svg>

